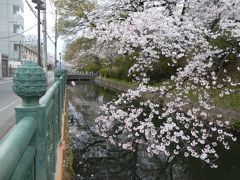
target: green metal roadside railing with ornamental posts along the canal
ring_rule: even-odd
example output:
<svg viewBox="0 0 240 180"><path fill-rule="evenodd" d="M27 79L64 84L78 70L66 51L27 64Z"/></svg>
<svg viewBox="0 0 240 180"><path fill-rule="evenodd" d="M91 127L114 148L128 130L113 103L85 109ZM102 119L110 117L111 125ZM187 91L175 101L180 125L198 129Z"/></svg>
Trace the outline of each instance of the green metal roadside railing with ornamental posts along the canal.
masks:
<svg viewBox="0 0 240 180"><path fill-rule="evenodd" d="M13 81L22 104L15 107L16 126L0 141L0 180L53 180L67 72L56 70L47 90L42 68L26 62Z"/></svg>

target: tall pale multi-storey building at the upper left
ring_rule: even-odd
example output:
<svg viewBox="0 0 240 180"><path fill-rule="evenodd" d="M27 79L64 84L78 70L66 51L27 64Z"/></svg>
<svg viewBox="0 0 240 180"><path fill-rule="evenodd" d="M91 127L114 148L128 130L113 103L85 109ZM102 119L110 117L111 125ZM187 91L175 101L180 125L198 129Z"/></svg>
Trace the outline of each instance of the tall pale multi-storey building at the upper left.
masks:
<svg viewBox="0 0 240 180"><path fill-rule="evenodd" d="M0 53L8 56L9 67L16 68L21 64L19 44L24 40L23 0L0 0L0 10Z"/></svg>

